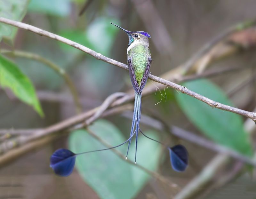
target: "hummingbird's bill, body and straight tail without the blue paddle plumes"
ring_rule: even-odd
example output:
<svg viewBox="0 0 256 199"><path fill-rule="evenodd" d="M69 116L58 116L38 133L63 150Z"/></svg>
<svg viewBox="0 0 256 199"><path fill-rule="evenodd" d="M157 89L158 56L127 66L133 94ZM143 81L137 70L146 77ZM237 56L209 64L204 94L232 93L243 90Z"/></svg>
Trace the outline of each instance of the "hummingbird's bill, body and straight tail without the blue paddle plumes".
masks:
<svg viewBox="0 0 256 199"><path fill-rule="evenodd" d="M111 23L113 24L113 23ZM116 24L113 24L117 26ZM117 26L118 28L121 28ZM151 64L151 56L149 51L148 38L150 35L144 31L131 32L121 28L129 37L129 44L127 48L127 64L129 75L132 81L132 86L135 91L134 110L132 117L132 128L130 137L135 128L135 162L137 157L137 140L139 134L139 124L141 115L141 92L147 82L149 75L149 68ZM126 158L128 156L131 140L128 144Z"/></svg>

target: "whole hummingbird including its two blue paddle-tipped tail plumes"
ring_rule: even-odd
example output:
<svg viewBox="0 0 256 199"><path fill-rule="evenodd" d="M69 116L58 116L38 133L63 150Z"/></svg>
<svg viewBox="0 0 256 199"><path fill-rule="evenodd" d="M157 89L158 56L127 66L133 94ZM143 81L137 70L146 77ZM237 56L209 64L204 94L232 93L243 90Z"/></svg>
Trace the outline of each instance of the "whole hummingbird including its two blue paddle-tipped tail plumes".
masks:
<svg viewBox="0 0 256 199"><path fill-rule="evenodd" d="M147 82L149 69L152 62L151 54L149 51L149 44L148 44L148 38L150 38L150 35L144 31L131 32L131 31L125 30L124 28L121 28L120 26L117 26L114 23L111 23L111 24L122 29L129 37L129 44L127 47L127 64L128 64L128 70L129 70L132 86L135 91L134 110L133 110L133 116L132 116L132 127L131 127L130 137L125 142L117 146L93 150L93 151L86 151L82 153L73 153L72 151L65 148L57 149L51 155L51 158L50 158L50 167L53 169L53 171L57 175L60 175L60 176L70 175L74 169L76 156L78 155L109 150L112 148L122 146L128 142L128 149L127 149L126 158L125 158L127 159L129 147L131 145L132 137L134 135L135 135L134 163L136 164L139 131L142 133L142 135L144 135L148 139L151 139L153 141L156 141L164 145L162 142L152 139L147 135L145 135L141 131L139 126L140 116L141 116L141 97L142 97L141 93ZM173 147L168 147L168 150L169 150L170 162L173 170L178 172L185 171L188 166L187 149L183 145L178 144Z"/></svg>

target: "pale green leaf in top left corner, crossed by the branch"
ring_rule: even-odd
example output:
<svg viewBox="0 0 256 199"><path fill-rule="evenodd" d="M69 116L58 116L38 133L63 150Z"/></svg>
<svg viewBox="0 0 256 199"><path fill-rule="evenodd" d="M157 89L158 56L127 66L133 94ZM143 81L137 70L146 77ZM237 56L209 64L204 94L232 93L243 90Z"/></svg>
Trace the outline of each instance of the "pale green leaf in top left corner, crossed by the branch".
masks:
<svg viewBox="0 0 256 199"><path fill-rule="evenodd" d="M27 12L29 0L0 0L0 16L7 19L21 21ZM12 44L18 28L0 23L0 41L6 40Z"/></svg>

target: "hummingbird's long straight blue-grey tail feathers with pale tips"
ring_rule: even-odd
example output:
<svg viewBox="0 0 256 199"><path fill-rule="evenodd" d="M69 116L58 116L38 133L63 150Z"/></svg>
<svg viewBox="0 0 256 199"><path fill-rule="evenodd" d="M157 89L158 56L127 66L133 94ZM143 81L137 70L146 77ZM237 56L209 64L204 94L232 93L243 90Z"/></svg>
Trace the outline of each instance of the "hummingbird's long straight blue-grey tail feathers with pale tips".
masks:
<svg viewBox="0 0 256 199"><path fill-rule="evenodd" d="M133 110L133 117L132 117L132 128L130 133L130 138L134 132L135 128L135 134L136 134L136 140L135 140L135 164L136 164L136 156L137 156L137 141L138 141L138 134L139 134L139 123L140 123L140 115L141 115L141 92L138 94L135 92L134 97L134 110ZM126 159L129 152L129 147L131 145L131 139L129 140Z"/></svg>

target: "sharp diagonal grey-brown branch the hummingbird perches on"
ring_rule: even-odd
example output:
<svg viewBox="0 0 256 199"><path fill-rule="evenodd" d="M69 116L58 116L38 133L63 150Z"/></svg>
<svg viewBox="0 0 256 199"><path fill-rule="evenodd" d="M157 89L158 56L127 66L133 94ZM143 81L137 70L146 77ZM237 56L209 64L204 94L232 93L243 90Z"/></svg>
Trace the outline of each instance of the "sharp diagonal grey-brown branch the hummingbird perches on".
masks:
<svg viewBox="0 0 256 199"><path fill-rule="evenodd" d="M74 41L66 39L62 36L55 35L51 32L45 31L41 28L36 28L34 26L31 26L31 25L28 25L28 24L25 24L25 23L22 23L22 22L9 20L9 19L6 19L4 17L0 17L0 22L3 22L5 24L9 24L9 25L12 25L12 26L15 26L15 27L18 27L18 28L23 28L25 30L34 32L34 33L36 33L38 35L41 35L41 36L46 36L46 37L52 38L52 39L60 41L64 44L68 44L70 46L73 46L74 48L77 48L78 50L81 50L81 51L95 57L98 60L102 60L102 61L105 61L109 64L112 64L112 65L115 65L115 66L118 66L120 68L124 68L124 69L128 70L128 67L127 67L126 64L123 64L123 63L118 62L116 60L110 59L106 56L103 56L102 54L100 54L98 52L93 51L90 48L87 48L87 47L85 47L81 44L78 44ZM245 117L251 118L252 120L256 121L256 113L245 111L245 110L235 108L235 107L231 107L231 106L228 106L228 105L225 105L225 104L221 104L219 102L216 102L216 101L213 101L209 98L206 98L206 97L204 97L204 96L202 96L202 95L200 95L196 92L190 91L189 89L187 89L184 86L181 86L179 84L175 84L173 82L167 81L163 78L160 78L160 77L157 77L157 76L154 76L154 75L151 75L151 74L148 76L148 78L151 79L151 80L154 80L154 81L156 81L160 84L164 84L166 86L174 88L175 90L180 91L181 93L185 93L187 95L190 95L191 97L194 97L198 100L201 100L204 103L210 105L211 107L219 108L221 110L230 111L230 112L233 112L233 113L236 113L236 114L239 114L239 115L243 115Z"/></svg>

